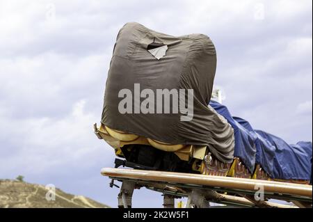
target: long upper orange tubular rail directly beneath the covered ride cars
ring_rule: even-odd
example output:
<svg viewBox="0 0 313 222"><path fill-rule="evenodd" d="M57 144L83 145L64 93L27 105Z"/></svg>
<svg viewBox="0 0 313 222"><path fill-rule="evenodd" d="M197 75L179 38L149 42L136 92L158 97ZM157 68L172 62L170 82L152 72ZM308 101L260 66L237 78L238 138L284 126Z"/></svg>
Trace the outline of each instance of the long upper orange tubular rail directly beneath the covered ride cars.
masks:
<svg viewBox="0 0 313 222"><path fill-rule="evenodd" d="M293 184L267 180L251 180L236 177L220 177L200 175L193 173L176 173L163 171L146 171L120 168L102 168L102 175L109 177L131 178L132 180L145 180L153 182L168 182L171 184L193 184L206 187L222 187L255 192L255 187L263 187L264 193L280 193L280 195L300 196L312 199L312 185Z"/></svg>

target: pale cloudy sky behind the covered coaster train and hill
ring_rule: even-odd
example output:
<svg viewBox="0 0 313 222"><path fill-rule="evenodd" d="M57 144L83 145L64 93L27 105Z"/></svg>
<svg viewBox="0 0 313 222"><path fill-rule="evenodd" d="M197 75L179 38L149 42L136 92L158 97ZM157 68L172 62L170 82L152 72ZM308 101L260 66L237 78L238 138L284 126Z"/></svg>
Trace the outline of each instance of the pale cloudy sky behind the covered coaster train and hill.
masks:
<svg viewBox="0 0 313 222"><path fill-rule="evenodd" d="M232 114L289 143L312 141L311 0L0 0L0 178L24 175L116 207L118 189L99 174L115 157L93 123L126 22L209 35ZM141 189L134 206L161 200Z"/></svg>

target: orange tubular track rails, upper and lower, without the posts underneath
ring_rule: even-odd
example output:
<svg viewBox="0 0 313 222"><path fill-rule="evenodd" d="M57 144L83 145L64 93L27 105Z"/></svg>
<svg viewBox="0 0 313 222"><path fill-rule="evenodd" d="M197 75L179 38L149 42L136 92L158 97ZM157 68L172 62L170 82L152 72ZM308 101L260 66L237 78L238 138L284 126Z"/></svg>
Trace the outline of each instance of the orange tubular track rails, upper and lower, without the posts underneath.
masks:
<svg viewBox="0 0 313 222"><path fill-rule="evenodd" d="M102 168L101 173L111 179L120 180L123 183L135 182L141 187L147 187L147 189L159 191L166 195L190 198L190 193L197 191L195 193L198 193L198 196L205 196L214 200L212 202L227 205L241 207L294 207L252 200L251 197L260 187L262 187L266 200L273 198L312 205L312 186L310 185L125 168ZM182 191L170 191L164 189L164 187L176 187Z"/></svg>

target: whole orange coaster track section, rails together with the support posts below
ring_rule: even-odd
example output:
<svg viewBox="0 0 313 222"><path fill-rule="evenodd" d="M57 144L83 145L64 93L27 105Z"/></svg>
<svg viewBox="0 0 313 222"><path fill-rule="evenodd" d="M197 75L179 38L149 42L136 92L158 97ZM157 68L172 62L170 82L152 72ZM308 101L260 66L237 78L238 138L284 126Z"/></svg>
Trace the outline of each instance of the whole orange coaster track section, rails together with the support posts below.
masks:
<svg viewBox="0 0 313 222"><path fill-rule="evenodd" d="M161 171L147 173L118 168L103 168L102 175L124 181L118 196L119 207L131 207L131 196L136 185L136 189L146 187L175 198L188 197L186 207L209 207L211 202L239 207L312 208L311 185ZM264 189L264 200L255 200L252 188L248 187L251 183L267 187L267 191ZM198 186L200 184L201 187ZM235 193L241 197L233 196ZM167 198L164 197L164 207L173 206L172 200ZM269 198L292 201L295 205L268 202Z"/></svg>

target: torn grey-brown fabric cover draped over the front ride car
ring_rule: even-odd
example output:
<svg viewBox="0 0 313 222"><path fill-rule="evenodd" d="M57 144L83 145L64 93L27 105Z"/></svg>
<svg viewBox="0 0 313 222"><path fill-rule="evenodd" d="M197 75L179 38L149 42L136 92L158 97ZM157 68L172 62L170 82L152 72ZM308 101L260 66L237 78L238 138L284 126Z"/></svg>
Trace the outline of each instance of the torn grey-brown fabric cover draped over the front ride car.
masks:
<svg viewBox="0 0 313 222"><path fill-rule="evenodd" d="M154 41L168 46L166 56L159 60L147 51ZM234 131L223 116L208 106L215 72L216 49L207 35L175 37L127 23L120 29L113 50L102 123L165 143L208 145L220 161L230 163L234 157ZM183 122L181 113L121 114L118 104L122 98L118 93L128 88L134 95L134 84L154 92L165 88L193 89L193 119ZM133 102L133 106L140 104Z"/></svg>

